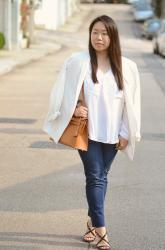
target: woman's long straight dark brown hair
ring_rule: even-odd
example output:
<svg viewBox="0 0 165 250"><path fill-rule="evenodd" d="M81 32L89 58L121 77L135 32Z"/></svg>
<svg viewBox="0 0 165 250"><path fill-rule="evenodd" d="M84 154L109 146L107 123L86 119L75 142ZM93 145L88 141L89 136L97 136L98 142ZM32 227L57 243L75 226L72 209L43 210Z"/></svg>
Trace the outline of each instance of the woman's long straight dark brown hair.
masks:
<svg viewBox="0 0 165 250"><path fill-rule="evenodd" d="M120 90L123 89L123 75L122 75L122 59L121 59L121 47L120 47L120 40L117 26L114 20L106 15L99 16L95 18L89 26L89 54L91 60L91 67L92 67L92 80L94 83L97 83L97 56L95 49L91 43L91 33L93 26L97 22L102 22L105 25L107 30L108 36L110 38L110 45L108 48L108 57L111 64L112 72L117 82L118 88Z"/></svg>

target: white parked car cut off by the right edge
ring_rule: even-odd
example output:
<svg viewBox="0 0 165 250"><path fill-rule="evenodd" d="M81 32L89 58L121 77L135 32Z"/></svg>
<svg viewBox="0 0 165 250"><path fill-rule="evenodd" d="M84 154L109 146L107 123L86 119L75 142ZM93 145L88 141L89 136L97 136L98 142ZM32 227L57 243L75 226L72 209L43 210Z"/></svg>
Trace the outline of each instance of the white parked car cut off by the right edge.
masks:
<svg viewBox="0 0 165 250"><path fill-rule="evenodd" d="M161 28L153 39L153 51L155 54L165 56L165 20L162 21Z"/></svg>

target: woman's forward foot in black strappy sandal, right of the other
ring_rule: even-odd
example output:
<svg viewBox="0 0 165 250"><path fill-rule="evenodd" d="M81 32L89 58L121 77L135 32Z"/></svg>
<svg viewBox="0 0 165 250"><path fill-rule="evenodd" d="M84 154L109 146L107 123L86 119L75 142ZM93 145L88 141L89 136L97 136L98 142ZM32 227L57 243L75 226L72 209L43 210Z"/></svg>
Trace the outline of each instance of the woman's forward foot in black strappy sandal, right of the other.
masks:
<svg viewBox="0 0 165 250"><path fill-rule="evenodd" d="M110 250L110 244L107 237L107 232L105 227L99 227L95 229L98 241L96 244L97 249L99 250Z"/></svg>

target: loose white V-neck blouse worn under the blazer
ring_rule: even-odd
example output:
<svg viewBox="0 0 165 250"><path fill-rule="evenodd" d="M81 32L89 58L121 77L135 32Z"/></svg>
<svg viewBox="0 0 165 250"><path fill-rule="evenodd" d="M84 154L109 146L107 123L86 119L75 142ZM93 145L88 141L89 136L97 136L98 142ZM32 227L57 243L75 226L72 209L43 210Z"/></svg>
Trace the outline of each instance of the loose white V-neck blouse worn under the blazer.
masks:
<svg viewBox="0 0 165 250"><path fill-rule="evenodd" d="M112 70L97 71L99 83L94 84L89 66L84 80L84 96L88 108L89 139L114 144L119 135L128 139L128 120L124 94L117 87Z"/></svg>

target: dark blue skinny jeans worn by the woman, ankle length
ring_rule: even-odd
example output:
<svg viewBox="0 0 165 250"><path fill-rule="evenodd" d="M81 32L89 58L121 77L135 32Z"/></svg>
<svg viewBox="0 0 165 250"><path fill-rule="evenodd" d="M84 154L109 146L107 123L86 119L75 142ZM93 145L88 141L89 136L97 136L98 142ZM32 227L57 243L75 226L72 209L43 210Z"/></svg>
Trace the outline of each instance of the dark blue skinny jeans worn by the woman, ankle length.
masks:
<svg viewBox="0 0 165 250"><path fill-rule="evenodd" d="M116 144L88 140L88 151L78 150L86 177L88 216L93 227L105 227L104 200L107 174L117 153Z"/></svg>

